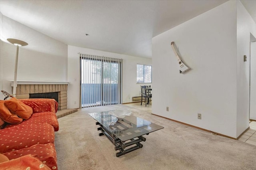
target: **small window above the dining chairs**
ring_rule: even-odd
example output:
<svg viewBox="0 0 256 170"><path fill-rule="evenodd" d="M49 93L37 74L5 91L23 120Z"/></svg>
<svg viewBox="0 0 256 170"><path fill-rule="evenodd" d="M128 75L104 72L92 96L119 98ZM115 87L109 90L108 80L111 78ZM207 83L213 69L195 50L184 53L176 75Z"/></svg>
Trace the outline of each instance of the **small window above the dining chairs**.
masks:
<svg viewBox="0 0 256 170"><path fill-rule="evenodd" d="M152 66L137 64L137 83L152 83Z"/></svg>

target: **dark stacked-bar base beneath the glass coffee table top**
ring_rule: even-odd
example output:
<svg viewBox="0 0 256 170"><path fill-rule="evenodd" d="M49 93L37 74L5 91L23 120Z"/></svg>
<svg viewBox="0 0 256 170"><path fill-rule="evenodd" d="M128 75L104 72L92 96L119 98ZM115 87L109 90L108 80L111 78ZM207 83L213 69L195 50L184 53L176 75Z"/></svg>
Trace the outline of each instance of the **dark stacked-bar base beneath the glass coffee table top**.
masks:
<svg viewBox="0 0 256 170"><path fill-rule="evenodd" d="M96 122L96 125L100 126L99 128L97 128L97 130L101 131L101 133L99 133L99 136L105 135L110 140L110 142L114 144L115 146L114 149L119 150L119 152L116 153L116 157L122 156L129 152L142 148L143 145L140 142L146 141L146 138L144 138L143 136L138 136L136 138L131 138L129 140L122 141L118 137L116 137L114 134L109 132L108 129L104 128L100 123ZM148 134L149 133L147 133L147 135ZM128 146L132 146L132 147L126 148Z"/></svg>

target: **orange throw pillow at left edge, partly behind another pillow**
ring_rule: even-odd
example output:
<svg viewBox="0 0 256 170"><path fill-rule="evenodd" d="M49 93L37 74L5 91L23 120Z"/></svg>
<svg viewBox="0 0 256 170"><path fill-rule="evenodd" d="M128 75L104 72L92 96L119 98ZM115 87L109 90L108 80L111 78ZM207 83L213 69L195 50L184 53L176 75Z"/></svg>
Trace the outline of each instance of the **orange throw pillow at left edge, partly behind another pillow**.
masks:
<svg viewBox="0 0 256 170"><path fill-rule="evenodd" d="M11 113L9 109L4 105L4 100L0 100L0 117L3 121L11 124L19 124L22 122L22 118Z"/></svg>

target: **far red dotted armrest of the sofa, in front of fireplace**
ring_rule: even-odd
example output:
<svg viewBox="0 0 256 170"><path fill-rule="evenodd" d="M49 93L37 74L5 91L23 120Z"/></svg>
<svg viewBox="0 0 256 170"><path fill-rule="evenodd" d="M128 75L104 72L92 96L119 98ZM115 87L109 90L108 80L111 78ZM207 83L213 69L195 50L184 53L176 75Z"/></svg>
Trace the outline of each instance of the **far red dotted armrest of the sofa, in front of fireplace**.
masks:
<svg viewBox="0 0 256 170"><path fill-rule="evenodd" d="M33 113L58 111L58 102L55 99L19 99L26 105L32 107Z"/></svg>

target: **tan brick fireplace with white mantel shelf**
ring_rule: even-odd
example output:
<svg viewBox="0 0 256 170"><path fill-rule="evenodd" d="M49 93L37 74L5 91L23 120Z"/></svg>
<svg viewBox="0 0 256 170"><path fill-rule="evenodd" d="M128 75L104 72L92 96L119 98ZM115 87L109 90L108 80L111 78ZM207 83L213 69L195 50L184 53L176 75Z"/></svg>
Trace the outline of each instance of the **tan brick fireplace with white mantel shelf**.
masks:
<svg viewBox="0 0 256 170"><path fill-rule="evenodd" d="M13 90L13 89L12 89ZM16 98L17 99L29 99L30 96L48 95L48 93L57 93L58 98L58 110L67 109L67 91L68 82L42 82L42 81L18 81L16 87ZM33 97L40 98L40 97ZM43 97L52 98L52 97Z"/></svg>

